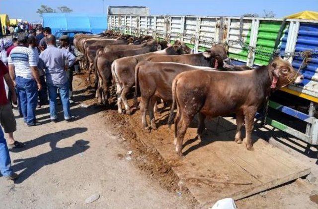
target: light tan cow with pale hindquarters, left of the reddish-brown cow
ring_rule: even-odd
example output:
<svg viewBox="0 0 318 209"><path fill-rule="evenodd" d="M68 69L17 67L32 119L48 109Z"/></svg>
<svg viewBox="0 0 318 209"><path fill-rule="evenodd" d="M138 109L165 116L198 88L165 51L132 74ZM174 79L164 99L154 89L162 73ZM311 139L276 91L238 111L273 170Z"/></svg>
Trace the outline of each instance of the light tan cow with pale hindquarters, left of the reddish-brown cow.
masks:
<svg viewBox="0 0 318 209"><path fill-rule="evenodd" d="M135 84L135 67L138 62L146 60L148 57L153 55L185 54L190 52L191 49L189 47L179 41L176 41L173 46L170 46L158 52L150 52L146 54L116 59L111 65L111 73L116 83L118 112L120 114L123 113L121 107L121 101L123 101L126 113L131 114L130 106L127 102L126 96Z"/></svg>

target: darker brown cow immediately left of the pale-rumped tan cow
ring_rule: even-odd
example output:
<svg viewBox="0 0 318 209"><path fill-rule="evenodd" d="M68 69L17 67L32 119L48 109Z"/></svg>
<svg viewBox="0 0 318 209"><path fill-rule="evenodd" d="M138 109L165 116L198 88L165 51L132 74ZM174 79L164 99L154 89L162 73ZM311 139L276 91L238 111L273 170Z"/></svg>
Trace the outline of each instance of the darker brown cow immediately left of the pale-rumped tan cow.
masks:
<svg viewBox="0 0 318 209"><path fill-rule="evenodd" d="M166 46L164 46L166 47ZM98 75L98 86L96 95L98 97L98 103L107 104L107 92L112 80L111 64L115 59L133 56L137 54L144 54L148 52L155 52L161 50L161 45L158 42L148 42L146 46L135 50L118 51L118 52L106 52L98 54L96 57L96 69ZM102 96L104 100L102 101Z"/></svg>

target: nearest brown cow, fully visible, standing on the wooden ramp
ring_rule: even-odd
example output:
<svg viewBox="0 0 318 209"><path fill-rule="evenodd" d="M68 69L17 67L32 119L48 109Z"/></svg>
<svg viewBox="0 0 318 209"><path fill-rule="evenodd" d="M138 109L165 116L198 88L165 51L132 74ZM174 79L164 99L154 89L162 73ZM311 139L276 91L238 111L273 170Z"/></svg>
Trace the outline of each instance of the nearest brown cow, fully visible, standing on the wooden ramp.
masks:
<svg viewBox="0 0 318 209"><path fill-rule="evenodd" d="M199 113L199 138L205 130L205 117L235 113L235 142L242 143L241 127L245 123L243 142L247 150L252 150L251 132L257 109L273 91L292 82L301 83L303 79L303 75L280 57L275 57L269 65L247 71L192 70L178 74L172 82L172 108L168 120L170 126L176 104L173 144L177 155L182 156L182 141L196 113Z"/></svg>

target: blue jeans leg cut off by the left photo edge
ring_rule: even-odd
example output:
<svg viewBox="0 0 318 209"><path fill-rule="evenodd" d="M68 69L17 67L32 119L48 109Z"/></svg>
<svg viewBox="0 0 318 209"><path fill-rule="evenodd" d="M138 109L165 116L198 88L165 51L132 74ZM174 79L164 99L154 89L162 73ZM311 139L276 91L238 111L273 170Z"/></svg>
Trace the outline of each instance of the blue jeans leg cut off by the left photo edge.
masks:
<svg viewBox="0 0 318 209"><path fill-rule="evenodd" d="M0 172L2 176L10 176L13 174L9 150L6 146L2 128L0 128Z"/></svg>

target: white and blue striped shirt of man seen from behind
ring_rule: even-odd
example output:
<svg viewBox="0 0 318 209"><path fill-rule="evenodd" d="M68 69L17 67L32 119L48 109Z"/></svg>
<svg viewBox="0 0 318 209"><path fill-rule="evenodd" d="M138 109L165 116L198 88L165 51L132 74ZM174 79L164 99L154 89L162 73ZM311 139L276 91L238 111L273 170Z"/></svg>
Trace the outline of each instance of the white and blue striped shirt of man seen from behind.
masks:
<svg viewBox="0 0 318 209"><path fill-rule="evenodd" d="M26 79L34 79L30 67L36 67L35 54L27 47L15 47L8 57L8 64L14 65L15 76Z"/></svg>

